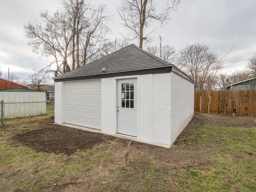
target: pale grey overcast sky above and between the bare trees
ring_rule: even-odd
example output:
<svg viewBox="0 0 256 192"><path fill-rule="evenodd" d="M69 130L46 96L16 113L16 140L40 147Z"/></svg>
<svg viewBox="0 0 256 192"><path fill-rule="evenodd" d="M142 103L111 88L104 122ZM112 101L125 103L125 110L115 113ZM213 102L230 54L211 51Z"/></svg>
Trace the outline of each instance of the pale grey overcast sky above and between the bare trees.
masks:
<svg viewBox="0 0 256 192"><path fill-rule="evenodd" d="M120 38L126 33L116 11L119 0L94 0L108 6L111 17L109 36ZM156 1L158 10L165 0ZM45 65L45 58L33 53L25 38L23 25L39 18L44 10L54 12L60 7L60 0L8 0L0 3L0 69L6 73L8 67L20 78L26 78L33 68ZM155 29L152 45L171 45L177 52L188 44L209 45L211 51L226 54L223 72L242 70L256 53L256 1L255 0L181 0L178 10L171 13L171 20L161 27L152 23ZM138 44L138 42L133 42Z"/></svg>

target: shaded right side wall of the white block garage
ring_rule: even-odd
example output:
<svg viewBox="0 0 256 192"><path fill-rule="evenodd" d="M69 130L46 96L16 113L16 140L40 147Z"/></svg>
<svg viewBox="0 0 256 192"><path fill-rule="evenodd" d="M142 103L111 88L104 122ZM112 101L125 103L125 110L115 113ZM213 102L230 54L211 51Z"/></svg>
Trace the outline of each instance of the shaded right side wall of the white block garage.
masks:
<svg viewBox="0 0 256 192"><path fill-rule="evenodd" d="M194 116L194 84L171 73L171 145Z"/></svg>

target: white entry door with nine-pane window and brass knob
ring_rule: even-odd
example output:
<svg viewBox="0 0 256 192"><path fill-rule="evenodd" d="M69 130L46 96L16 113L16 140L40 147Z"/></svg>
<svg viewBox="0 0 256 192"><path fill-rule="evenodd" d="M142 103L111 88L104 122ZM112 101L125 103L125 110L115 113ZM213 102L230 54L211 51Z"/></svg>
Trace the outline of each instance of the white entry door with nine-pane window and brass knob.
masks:
<svg viewBox="0 0 256 192"><path fill-rule="evenodd" d="M117 133L137 137L137 79L117 81Z"/></svg>

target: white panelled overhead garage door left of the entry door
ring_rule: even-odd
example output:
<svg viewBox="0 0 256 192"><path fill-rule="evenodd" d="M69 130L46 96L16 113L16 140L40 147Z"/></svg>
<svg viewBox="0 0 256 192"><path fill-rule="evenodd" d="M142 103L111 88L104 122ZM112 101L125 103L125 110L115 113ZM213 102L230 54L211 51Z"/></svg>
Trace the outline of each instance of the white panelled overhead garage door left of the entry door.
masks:
<svg viewBox="0 0 256 192"><path fill-rule="evenodd" d="M65 123L100 129L100 80L64 83Z"/></svg>

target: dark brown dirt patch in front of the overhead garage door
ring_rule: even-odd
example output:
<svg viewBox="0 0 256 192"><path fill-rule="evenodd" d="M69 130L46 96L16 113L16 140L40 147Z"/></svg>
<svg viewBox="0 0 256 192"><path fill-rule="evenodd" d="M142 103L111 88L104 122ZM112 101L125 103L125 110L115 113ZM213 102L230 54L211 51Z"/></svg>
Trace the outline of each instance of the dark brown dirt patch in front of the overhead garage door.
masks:
<svg viewBox="0 0 256 192"><path fill-rule="evenodd" d="M77 149L92 148L103 141L113 141L115 138L48 122L40 129L17 134L13 139L38 151L70 155Z"/></svg>

